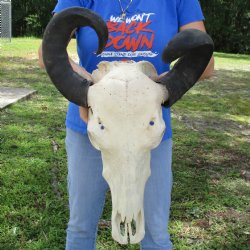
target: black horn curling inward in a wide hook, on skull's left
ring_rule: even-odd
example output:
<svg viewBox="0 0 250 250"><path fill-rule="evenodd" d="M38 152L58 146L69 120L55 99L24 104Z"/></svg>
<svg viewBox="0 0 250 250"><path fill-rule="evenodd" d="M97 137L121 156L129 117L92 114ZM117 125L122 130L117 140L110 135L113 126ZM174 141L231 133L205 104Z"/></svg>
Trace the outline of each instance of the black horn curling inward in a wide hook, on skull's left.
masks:
<svg viewBox="0 0 250 250"><path fill-rule="evenodd" d="M100 16L80 7L66 9L51 19L44 33L42 51L46 71L56 88L69 101L87 107L88 88L92 83L73 71L66 50L73 30L84 26L96 31L97 54L100 54L108 41L107 26Z"/></svg>

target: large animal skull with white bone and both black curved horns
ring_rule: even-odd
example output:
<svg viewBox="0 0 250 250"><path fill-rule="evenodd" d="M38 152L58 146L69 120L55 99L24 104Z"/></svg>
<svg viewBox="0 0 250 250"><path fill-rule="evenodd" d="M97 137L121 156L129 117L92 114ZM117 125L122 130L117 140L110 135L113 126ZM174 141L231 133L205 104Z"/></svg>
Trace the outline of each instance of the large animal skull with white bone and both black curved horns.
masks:
<svg viewBox="0 0 250 250"><path fill-rule="evenodd" d="M150 151L165 131L161 105L171 106L190 89L213 51L211 38L189 30L178 34L163 51L163 60L178 59L158 83L148 62L101 62L92 81L73 71L66 51L72 31L90 26L99 38L97 53L108 40L104 21L84 8L56 15L43 39L44 64L52 82L69 100L89 108L88 135L101 150L103 176L112 194L112 236L121 244L144 237L143 197L150 176Z"/></svg>

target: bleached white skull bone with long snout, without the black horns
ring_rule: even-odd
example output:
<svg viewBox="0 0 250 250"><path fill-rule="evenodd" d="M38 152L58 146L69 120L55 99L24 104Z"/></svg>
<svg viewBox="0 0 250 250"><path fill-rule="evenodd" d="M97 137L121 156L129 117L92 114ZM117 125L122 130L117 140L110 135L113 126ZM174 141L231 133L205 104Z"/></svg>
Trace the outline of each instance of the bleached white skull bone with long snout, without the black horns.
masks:
<svg viewBox="0 0 250 250"><path fill-rule="evenodd" d="M101 62L88 91L88 135L101 150L103 176L112 196L112 236L120 244L127 244L128 236L132 244L144 237L150 151L165 131L161 104L167 90L149 76L157 76L149 62Z"/></svg>

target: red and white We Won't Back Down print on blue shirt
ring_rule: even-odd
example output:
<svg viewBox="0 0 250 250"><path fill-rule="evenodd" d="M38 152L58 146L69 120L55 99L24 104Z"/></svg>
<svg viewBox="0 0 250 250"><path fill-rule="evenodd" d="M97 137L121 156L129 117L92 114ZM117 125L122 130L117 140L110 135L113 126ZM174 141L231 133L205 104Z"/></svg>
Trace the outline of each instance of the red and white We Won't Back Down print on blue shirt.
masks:
<svg viewBox="0 0 250 250"><path fill-rule="evenodd" d="M141 13L126 17L110 16L107 21L109 40L100 57L156 57L152 51L155 33L150 28L155 13Z"/></svg>

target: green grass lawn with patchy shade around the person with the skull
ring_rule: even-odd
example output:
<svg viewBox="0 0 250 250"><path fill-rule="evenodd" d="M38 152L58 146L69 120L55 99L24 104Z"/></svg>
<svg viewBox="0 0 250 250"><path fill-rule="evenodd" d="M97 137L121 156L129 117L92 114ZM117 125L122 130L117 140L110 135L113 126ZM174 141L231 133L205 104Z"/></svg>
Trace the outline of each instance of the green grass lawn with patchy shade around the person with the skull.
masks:
<svg viewBox="0 0 250 250"><path fill-rule="evenodd" d="M67 102L37 65L35 38L0 47L0 86L37 90L1 111L0 250L64 249ZM69 51L75 57L75 44ZM216 74L173 107L174 249L250 249L250 56L215 53ZM107 194L103 219L111 213ZM119 246L100 228L97 249Z"/></svg>

